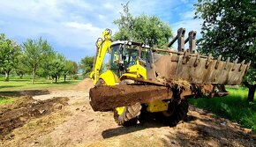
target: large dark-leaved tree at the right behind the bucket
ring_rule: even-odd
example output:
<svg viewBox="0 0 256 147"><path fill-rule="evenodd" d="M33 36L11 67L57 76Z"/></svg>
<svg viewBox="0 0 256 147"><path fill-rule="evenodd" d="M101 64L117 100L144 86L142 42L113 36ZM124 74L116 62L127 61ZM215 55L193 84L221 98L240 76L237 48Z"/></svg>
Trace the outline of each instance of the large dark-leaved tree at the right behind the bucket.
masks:
<svg viewBox="0 0 256 147"><path fill-rule="evenodd" d="M199 0L195 8L195 18L204 20L198 42L202 53L230 56L239 62L252 61L245 78L248 100L252 101L256 89L256 1Z"/></svg>

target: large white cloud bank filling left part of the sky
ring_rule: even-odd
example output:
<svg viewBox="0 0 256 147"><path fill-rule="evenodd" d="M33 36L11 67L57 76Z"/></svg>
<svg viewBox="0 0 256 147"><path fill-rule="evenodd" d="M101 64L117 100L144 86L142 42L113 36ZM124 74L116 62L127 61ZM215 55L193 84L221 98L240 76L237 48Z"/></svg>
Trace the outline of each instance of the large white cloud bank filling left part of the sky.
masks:
<svg viewBox="0 0 256 147"><path fill-rule="evenodd" d="M110 11L111 4L90 4L83 0L10 0L1 2L0 7L0 17L4 18L0 25L11 21L4 31L14 38L36 38L46 34L53 36L60 46L74 48L87 48L89 43L94 45L104 28L113 26L112 20L106 19L119 15L115 10Z"/></svg>

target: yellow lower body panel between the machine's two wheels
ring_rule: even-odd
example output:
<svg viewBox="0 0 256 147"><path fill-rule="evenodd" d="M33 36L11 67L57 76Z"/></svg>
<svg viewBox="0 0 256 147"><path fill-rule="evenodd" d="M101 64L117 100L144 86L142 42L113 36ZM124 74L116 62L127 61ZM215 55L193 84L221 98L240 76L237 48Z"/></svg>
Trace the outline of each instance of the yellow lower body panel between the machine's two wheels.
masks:
<svg viewBox="0 0 256 147"><path fill-rule="evenodd" d="M147 111L150 113L162 112L168 110L168 102L156 100L147 104Z"/></svg>

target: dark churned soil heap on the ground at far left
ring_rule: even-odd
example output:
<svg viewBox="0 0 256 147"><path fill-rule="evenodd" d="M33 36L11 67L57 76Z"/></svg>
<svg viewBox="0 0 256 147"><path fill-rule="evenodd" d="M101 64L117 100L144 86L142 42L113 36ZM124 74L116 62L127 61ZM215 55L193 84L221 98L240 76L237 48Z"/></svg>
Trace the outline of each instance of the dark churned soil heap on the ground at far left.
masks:
<svg viewBox="0 0 256 147"><path fill-rule="evenodd" d="M35 100L32 96L22 97L14 104L0 107L0 141L13 129L23 126L26 121L55 112L68 105L66 97Z"/></svg>

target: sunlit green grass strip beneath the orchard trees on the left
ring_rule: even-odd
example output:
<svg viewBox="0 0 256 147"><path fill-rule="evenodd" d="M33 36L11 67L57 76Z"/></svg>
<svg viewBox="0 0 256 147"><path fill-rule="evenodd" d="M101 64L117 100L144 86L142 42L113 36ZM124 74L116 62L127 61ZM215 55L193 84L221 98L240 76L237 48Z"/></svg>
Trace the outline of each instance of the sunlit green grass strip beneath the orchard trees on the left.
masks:
<svg viewBox="0 0 256 147"><path fill-rule="evenodd" d="M51 80L45 78L36 78L34 85L31 83L31 79L10 79L5 82L3 78L0 78L0 92L4 91L21 91L21 90L41 90L41 89L58 89L58 88L70 88L73 85L77 85L81 80L67 80L63 79L57 81L57 83L51 84Z"/></svg>

